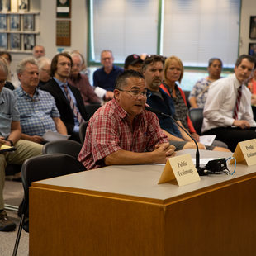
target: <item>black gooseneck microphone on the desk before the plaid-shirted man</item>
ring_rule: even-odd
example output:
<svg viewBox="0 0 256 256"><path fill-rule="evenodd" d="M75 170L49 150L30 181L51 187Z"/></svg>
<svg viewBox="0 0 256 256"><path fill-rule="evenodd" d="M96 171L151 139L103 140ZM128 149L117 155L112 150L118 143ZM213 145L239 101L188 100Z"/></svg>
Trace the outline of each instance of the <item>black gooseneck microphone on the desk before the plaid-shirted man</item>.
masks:
<svg viewBox="0 0 256 256"><path fill-rule="evenodd" d="M190 135L190 134L187 132L187 130L185 130L185 129L183 128L183 126L180 126L180 125L178 124L178 121L176 121L176 120L173 118L173 116L170 116L170 115L168 115L168 114L164 114L163 112L161 112L161 111L159 111L159 110L157 110L157 109L154 109L154 108L152 108L152 107L148 107L148 106L145 106L145 110L150 111L150 112L153 112L153 113L156 114L156 115L160 115L160 116L165 116L165 117L171 118L171 119L175 122L175 124L176 124L178 127L180 127L182 130L184 130L184 131L187 133L187 135L194 141L194 143L195 143L195 145L196 145L196 147L197 147L197 150L196 150L196 168L197 168L197 173L198 173L200 176L207 175L206 168L200 167L199 149L198 149L197 141L192 137L192 135Z"/></svg>

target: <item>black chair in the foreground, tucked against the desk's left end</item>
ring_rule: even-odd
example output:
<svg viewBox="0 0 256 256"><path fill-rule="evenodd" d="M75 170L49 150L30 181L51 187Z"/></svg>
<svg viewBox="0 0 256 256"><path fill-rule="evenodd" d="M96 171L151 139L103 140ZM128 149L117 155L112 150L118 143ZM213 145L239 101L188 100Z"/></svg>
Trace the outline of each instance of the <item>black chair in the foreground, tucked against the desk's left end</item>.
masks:
<svg viewBox="0 0 256 256"><path fill-rule="evenodd" d="M24 202L21 210L21 220L17 232L17 238L12 256L17 255L17 249L21 239L21 230L28 215L29 187L32 182L46 178L78 173L85 171L82 163L68 154L43 154L26 159L21 168L21 180L24 189Z"/></svg>

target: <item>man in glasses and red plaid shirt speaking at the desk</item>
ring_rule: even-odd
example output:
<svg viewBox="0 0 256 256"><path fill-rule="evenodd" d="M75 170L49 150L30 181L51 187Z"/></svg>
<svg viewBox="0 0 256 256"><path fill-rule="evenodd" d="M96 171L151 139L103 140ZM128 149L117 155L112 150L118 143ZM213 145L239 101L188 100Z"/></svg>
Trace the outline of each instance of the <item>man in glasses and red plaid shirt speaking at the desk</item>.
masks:
<svg viewBox="0 0 256 256"><path fill-rule="evenodd" d="M155 114L145 111L149 97L144 76L126 70L116 79L115 97L88 122L78 160L87 169L113 164L165 164L175 147Z"/></svg>

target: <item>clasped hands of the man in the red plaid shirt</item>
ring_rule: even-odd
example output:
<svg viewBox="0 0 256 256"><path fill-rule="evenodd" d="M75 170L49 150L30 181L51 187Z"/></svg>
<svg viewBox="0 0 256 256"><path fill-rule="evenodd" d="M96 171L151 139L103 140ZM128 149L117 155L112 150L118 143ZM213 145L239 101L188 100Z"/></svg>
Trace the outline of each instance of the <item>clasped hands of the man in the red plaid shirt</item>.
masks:
<svg viewBox="0 0 256 256"><path fill-rule="evenodd" d="M168 158L175 156L176 153L174 150L175 147L173 145L169 145L168 143L155 145L153 151L154 163L165 164Z"/></svg>

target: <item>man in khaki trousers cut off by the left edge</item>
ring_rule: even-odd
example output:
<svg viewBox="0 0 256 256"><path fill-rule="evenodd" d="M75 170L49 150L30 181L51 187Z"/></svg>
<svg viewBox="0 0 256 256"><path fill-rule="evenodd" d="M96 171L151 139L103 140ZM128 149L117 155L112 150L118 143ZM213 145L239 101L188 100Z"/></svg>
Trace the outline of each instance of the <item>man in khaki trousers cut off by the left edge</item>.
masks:
<svg viewBox="0 0 256 256"><path fill-rule="evenodd" d="M41 154L42 145L31 141L20 140L20 116L17 110L17 100L13 92L3 85L7 79L7 65L0 61L0 147L14 146L16 151L0 154L0 231L13 231L16 224L8 219L3 210L3 186L7 164L22 164L26 159Z"/></svg>

